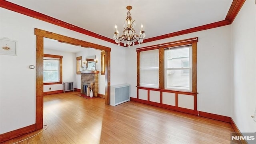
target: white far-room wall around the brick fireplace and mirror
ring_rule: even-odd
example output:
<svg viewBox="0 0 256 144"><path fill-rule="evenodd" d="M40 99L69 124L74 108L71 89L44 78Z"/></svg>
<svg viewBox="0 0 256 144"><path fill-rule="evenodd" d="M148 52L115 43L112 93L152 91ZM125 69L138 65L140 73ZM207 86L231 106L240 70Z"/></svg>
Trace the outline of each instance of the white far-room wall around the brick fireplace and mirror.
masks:
<svg viewBox="0 0 256 144"><path fill-rule="evenodd" d="M94 50L90 48L84 48L84 50L77 52L76 57L82 56L82 61L85 61L87 56L96 56L96 60L98 60L98 63L96 63L96 69L98 71L101 71L101 51L100 50ZM86 64L82 64L84 68L86 67ZM76 74L76 88L81 89L81 74ZM101 75L99 73L99 94L105 94L105 75Z"/></svg>

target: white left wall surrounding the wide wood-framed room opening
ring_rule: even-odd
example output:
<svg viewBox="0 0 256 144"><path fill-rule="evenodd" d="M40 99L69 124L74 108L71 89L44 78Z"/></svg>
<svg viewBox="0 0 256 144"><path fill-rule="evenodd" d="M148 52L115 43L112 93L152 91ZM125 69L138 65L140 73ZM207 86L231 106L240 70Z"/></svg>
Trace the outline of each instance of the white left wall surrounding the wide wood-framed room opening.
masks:
<svg viewBox="0 0 256 144"><path fill-rule="evenodd" d="M34 28L111 48L111 84L125 83L125 49L66 28L0 8L0 38L18 41L18 55L0 55L0 134L36 120L36 36Z"/></svg>

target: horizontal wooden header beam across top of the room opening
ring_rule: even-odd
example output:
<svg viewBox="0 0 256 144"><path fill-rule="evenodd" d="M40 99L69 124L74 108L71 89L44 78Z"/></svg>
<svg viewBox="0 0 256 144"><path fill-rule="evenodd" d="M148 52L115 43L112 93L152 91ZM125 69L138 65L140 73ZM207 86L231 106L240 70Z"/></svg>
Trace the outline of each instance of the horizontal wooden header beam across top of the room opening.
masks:
<svg viewBox="0 0 256 144"><path fill-rule="evenodd" d="M98 50L111 51L111 48L108 48L106 46L101 46L101 45L94 44L94 43L91 43L91 42L86 42L86 41L83 41L83 40L78 40L76 38L71 38L71 37L68 37L68 36L63 36L61 34L56 34L56 33L53 33L53 32L48 32L46 30L40 30L38 28L35 28L35 35L43 36L45 38L51 38L51 39L54 39L54 40L61 40L63 42L68 42L70 44L77 44L77 45L80 45L81 47L84 47L84 48L96 48Z"/></svg>

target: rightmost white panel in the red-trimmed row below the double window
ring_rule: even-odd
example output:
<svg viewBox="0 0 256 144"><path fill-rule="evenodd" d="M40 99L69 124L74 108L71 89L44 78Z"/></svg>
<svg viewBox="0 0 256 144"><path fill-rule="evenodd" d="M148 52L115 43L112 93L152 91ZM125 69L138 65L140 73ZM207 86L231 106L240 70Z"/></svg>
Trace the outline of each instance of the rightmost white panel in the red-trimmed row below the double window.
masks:
<svg viewBox="0 0 256 144"><path fill-rule="evenodd" d="M178 94L178 107L194 110L194 96Z"/></svg>

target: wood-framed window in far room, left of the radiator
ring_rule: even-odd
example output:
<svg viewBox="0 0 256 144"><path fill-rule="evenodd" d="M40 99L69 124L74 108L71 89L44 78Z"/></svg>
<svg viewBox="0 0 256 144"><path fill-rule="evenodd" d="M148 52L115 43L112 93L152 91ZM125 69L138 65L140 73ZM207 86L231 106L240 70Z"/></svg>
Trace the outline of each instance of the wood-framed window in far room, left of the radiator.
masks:
<svg viewBox="0 0 256 144"><path fill-rule="evenodd" d="M62 56L44 54L44 84L62 83Z"/></svg>

